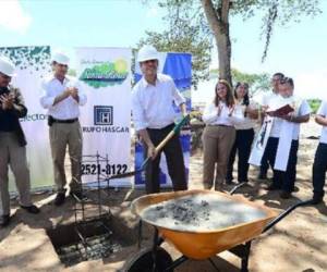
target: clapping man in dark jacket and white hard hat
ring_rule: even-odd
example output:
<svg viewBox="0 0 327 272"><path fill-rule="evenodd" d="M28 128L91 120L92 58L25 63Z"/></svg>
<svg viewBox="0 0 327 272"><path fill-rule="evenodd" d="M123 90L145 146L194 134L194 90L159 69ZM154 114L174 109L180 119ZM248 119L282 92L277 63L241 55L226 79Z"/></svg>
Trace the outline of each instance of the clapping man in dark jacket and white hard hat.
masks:
<svg viewBox="0 0 327 272"><path fill-rule="evenodd" d="M10 85L14 76L13 63L0 57L0 226L10 222L10 195L8 189L8 165L13 172L20 203L31 213L39 209L31 201L29 170L26 160L26 140L20 118L27 114L20 89Z"/></svg>

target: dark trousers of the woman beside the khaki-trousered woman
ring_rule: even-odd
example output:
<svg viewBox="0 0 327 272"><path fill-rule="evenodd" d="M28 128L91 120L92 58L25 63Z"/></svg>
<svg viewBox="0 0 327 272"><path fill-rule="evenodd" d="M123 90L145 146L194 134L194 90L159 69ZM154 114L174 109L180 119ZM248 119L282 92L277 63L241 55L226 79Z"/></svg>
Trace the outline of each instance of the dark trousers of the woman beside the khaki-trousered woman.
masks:
<svg viewBox="0 0 327 272"><path fill-rule="evenodd" d="M251 153L251 146L254 138L254 131L251 129L237 129L237 137L232 150L230 152L228 166L227 166L227 181L233 180L233 164L238 153L238 181L240 183L247 182L249 172L249 158Z"/></svg>

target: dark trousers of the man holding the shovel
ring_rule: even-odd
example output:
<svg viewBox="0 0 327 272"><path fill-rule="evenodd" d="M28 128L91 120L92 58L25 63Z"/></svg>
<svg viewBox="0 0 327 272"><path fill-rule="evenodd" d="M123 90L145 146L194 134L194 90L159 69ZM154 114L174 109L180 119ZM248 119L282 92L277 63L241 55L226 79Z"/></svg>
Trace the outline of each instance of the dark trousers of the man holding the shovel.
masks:
<svg viewBox="0 0 327 272"><path fill-rule="evenodd" d="M174 127L173 124L166 126L161 129L147 128L147 133L155 146L158 146L162 139L171 132ZM168 173L172 181L173 190L187 189L185 166L183 151L180 143L179 134L175 134L162 149L168 166ZM147 149L145 148L145 157L147 156ZM153 160L145 170L145 190L146 194L159 193L160 191L160 157L161 151L157 154L156 159Z"/></svg>

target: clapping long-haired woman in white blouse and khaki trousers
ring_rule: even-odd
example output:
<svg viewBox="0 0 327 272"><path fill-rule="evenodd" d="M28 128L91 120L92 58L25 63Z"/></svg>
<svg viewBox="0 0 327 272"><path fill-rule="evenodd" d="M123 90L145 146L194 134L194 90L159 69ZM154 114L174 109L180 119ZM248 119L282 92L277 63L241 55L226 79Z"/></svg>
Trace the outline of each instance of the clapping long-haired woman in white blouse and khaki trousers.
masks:
<svg viewBox="0 0 327 272"><path fill-rule="evenodd" d="M217 164L215 189L222 189L230 150L235 139L235 128L230 120L233 109L232 89L227 81L219 79L215 87L215 98L203 113L203 121L206 123L203 133L205 189L213 187L215 164Z"/></svg>

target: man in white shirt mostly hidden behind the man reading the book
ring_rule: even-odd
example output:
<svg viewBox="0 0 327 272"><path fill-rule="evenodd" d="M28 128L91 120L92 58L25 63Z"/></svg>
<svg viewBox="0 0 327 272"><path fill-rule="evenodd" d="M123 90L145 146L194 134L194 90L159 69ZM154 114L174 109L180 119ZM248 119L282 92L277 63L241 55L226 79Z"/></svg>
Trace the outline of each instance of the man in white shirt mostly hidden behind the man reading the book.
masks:
<svg viewBox="0 0 327 272"><path fill-rule="evenodd" d="M278 87L280 84L280 81L284 77L282 73L275 73L271 78L271 86L272 86L272 91L270 94L267 94L263 97L262 101L262 107L265 110L268 106L269 102L278 97ZM262 164L261 164L261 170L258 174L258 180L267 180L267 172L269 169L268 161L265 157L263 157Z"/></svg>

